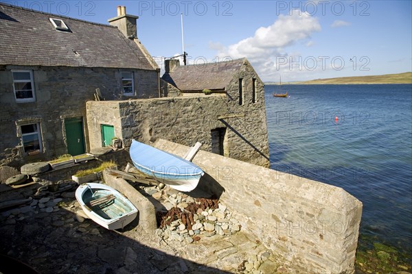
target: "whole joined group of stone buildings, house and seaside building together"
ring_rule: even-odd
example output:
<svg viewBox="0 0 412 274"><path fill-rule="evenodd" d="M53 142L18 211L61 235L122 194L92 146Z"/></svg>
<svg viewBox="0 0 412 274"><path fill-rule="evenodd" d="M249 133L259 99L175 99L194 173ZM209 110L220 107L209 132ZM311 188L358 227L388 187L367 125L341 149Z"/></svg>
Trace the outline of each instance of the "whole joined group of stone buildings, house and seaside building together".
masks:
<svg viewBox="0 0 412 274"><path fill-rule="evenodd" d="M249 62L172 60L163 80L137 18L118 7L103 25L0 4L1 165L162 137L268 166L263 84Z"/></svg>

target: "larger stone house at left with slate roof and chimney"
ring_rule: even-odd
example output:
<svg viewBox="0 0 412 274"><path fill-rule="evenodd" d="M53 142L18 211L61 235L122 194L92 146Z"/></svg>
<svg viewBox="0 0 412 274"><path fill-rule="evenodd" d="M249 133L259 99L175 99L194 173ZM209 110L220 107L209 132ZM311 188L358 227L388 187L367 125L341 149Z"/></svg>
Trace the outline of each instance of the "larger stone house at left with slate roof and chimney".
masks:
<svg viewBox="0 0 412 274"><path fill-rule="evenodd" d="M0 3L0 164L89 151L85 102L95 97L159 97L137 18L118 7L102 25Z"/></svg>

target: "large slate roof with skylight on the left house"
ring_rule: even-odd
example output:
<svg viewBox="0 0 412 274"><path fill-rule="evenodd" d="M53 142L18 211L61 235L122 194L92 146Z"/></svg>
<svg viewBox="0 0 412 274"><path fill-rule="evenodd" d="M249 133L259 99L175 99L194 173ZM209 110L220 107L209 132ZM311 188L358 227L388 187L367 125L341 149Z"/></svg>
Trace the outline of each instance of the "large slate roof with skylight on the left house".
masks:
<svg viewBox="0 0 412 274"><path fill-rule="evenodd" d="M62 19L70 32L54 28ZM0 64L155 70L117 27L0 3Z"/></svg>

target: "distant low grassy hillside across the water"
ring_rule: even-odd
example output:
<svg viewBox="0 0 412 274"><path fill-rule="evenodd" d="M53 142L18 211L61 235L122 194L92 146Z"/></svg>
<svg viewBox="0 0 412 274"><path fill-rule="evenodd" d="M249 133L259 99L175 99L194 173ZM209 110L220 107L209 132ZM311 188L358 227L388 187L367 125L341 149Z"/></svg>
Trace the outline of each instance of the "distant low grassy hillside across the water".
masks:
<svg viewBox="0 0 412 274"><path fill-rule="evenodd" d="M290 82L290 84L412 84L412 72L385 75L316 79L303 82Z"/></svg>

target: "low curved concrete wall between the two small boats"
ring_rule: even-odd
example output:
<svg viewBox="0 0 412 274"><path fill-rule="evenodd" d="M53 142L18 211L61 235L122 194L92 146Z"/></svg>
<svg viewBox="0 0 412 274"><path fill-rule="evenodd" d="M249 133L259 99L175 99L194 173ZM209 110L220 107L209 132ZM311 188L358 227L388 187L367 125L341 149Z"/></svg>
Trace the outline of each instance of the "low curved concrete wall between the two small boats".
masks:
<svg viewBox="0 0 412 274"><path fill-rule="evenodd" d="M130 186L126 180L109 175L107 169L103 171L103 179L108 186L126 195L139 210L139 226L137 229L147 233L152 233L157 229L155 206L146 197L141 195L133 186Z"/></svg>

